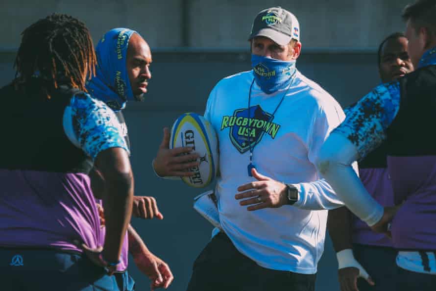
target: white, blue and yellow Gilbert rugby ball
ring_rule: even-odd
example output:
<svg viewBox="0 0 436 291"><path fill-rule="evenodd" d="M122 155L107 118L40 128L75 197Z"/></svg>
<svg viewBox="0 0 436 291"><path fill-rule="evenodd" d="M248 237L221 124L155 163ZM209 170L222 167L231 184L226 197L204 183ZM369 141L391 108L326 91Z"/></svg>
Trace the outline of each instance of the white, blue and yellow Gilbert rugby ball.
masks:
<svg viewBox="0 0 436 291"><path fill-rule="evenodd" d="M218 139L212 124L196 113L182 114L171 128L170 148L192 146L200 156L200 164L190 169L195 174L181 177L189 186L202 188L209 185L218 171Z"/></svg>

